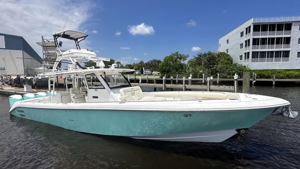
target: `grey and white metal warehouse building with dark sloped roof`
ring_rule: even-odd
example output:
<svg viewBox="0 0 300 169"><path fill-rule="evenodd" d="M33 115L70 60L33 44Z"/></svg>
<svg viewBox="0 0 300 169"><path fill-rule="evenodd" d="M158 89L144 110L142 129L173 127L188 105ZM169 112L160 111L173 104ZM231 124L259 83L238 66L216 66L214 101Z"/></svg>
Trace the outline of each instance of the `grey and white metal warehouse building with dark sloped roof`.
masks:
<svg viewBox="0 0 300 169"><path fill-rule="evenodd" d="M0 33L0 75L32 75L42 67L41 57L23 37Z"/></svg>

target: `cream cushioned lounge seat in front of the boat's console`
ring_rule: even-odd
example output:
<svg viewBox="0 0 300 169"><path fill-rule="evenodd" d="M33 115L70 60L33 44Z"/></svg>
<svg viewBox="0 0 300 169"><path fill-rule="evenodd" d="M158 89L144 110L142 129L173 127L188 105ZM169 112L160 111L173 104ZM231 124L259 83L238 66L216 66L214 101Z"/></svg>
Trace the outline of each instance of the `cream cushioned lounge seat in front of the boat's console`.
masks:
<svg viewBox="0 0 300 169"><path fill-rule="evenodd" d="M163 97L144 96L140 86L126 87L120 89L121 101L164 101Z"/></svg>

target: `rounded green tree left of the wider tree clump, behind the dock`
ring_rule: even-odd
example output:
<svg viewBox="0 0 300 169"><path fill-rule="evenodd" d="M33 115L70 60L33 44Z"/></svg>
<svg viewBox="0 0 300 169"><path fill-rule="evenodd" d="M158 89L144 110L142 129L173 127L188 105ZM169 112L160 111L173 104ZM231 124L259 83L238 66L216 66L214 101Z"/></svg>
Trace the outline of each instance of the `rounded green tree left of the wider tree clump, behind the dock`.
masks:
<svg viewBox="0 0 300 169"><path fill-rule="evenodd" d="M166 56L159 64L159 71L162 75L176 76L186 73L186 64L183 63L188 58L188 55L180 54L179 52L171 53Z"/></svg>

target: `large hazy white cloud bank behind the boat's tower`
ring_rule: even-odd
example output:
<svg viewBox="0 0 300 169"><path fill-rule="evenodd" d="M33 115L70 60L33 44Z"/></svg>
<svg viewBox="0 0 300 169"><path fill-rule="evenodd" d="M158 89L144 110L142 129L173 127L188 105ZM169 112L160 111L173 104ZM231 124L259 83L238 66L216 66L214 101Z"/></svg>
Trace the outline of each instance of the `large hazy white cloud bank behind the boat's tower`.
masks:
<svg viewBox="0 0 300 169"><path fill-rule="evenodd" d="M81 26L89 20L93 8L89 1L1 1L0 32L24 37L41 56L42 49L36 44L41 41L41 36L52 36L61 32L69 12L65 30L85 30ZM72 46L66 40L62 41L63 48L75 48L70 40L68 41ZM82 48L87 48L89 43L85 40L80 44Z"/></svg>

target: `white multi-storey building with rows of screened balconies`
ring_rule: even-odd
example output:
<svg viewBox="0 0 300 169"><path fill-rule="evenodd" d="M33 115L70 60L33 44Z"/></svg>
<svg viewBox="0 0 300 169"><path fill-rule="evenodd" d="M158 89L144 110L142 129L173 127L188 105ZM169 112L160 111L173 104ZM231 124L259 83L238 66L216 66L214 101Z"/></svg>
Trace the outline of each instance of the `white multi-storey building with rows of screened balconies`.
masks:
<svg viewBox="0 0 300 169"><path fill-rule="evenodd" d="M300 16L251 18L218 45L250 69L300 69Z"/></svg>

